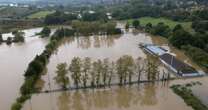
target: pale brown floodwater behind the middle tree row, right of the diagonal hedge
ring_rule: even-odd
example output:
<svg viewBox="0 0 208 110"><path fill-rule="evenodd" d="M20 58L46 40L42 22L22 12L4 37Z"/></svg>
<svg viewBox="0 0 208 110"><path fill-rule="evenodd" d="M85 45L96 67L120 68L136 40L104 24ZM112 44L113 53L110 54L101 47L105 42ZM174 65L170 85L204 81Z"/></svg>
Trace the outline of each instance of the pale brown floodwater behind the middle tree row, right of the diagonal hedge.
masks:
<svg viewBox="0 0 208 110"><path fill-rule="evenodd" d="M56 66L63 62L70 64L74 57L89 57L92 60L109 58L113 61L123 55L130 55L134 59L137 57L146 58L143 50L138 48L141 41L148 43L151 42L151 38L145 34L126 33L122 36L91 36L67 39L59 47L56 54L50 58L47 66L48 74L42 77L46 81L43 90L60 88L53 80L56 75Z"/></svg>

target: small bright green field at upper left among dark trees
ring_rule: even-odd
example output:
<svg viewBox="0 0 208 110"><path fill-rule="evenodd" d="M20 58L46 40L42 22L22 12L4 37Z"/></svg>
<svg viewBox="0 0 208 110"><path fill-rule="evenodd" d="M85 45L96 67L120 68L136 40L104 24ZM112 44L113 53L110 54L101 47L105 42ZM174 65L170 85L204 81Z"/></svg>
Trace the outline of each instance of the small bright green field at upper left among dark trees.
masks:
<svg viewBox="0 0 208 110"><path fill-rule="evenodd" d="M29 19L45 18L47 15L54 13L55 11L39 11L28 16Z"/></svg>

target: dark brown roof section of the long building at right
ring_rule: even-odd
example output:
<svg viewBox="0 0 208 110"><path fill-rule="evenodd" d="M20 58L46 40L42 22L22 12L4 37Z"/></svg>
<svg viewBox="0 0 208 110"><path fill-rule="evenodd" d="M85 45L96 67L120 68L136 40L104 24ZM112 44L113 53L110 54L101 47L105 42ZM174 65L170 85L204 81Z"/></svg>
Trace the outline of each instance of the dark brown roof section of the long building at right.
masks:
<svg viewBox="0 0 208 110"><path fill-rule="evenodd" d="M160 56L160 59L182 74L198 73L193 67L178 60L173 55L165 53Z"/></svg>

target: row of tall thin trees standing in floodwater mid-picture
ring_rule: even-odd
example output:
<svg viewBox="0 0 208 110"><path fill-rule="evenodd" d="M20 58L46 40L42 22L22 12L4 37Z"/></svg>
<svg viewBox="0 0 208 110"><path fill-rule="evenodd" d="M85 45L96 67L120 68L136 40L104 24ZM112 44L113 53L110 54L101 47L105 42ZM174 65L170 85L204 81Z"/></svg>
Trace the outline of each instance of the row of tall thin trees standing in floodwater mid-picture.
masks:
<svg viewBox="0 0 208 110"><path fill-rule="evenodd" d="M110 86L113 83L132 84L133 77L138 83L144 80L144 76L147 81L170 78L165 72L163 72L163 77L160 77L159 64L155 60L142 58L134 60L128 55L122 56L116 62L110 62L109 59L92 61L88 57L83 60L75 57L69 67L66 63L57 65L57 75L54 80L66 89L70 85L70 79L73 81L72 87L94 88ZM69 73L71 76L68 75Z"/></svg>

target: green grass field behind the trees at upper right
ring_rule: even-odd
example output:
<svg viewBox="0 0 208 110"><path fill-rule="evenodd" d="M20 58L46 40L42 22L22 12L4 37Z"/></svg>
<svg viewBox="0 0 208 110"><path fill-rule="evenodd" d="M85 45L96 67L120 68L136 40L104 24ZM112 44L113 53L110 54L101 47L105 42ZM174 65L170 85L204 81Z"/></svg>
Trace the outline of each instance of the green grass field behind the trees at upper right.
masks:
<svg viewBox="0 0 208 110"><path fill-rule="evenodd" d="M130 23L133 20L128 20ZM181 24L183 28L189 32L193 32L193 29L191 28L191 22L177 22L166 18L152 18L152 17L142 17L139 19L140 24L142 26L145 26L147 23L152 23L153 25L157 25L160 22L165 23L168 25L171 29L173 29L177 24Z"/></svg>

